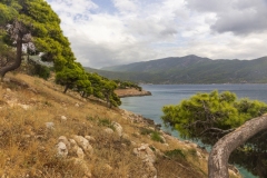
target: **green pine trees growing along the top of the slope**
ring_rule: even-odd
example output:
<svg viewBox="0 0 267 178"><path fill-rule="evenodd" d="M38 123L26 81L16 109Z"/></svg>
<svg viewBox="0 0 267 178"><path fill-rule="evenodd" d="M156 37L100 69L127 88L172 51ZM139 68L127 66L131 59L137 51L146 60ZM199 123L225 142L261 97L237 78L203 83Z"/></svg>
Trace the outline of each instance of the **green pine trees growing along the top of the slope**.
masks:
<svg viewBox="0 0 267 178"><path fill-rule="evenodd" d="M0 1L0 78L18 69L22 60L52 63L52 68L34 65L34 71L43 78L49 71L56 73L56 82L63 86L66 93L77 91L83 98L93 95L106 100L109 107L121 103L113 92L115 81L97 73L86 72L70 48L70 42L60 29L60 19L44 0ZM22 50L22 49L26 50Z"/></svg>

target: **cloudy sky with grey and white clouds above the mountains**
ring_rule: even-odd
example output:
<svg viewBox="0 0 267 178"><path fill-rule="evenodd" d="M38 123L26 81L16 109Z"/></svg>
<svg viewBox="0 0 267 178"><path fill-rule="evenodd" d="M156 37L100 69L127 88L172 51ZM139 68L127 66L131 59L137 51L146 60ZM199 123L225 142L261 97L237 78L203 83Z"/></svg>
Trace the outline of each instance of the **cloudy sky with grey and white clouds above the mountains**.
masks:
<svg viewBox="0 0 267 178"><path fill-rule="evenodd" d="M267 0L47 1L86 67L187 55L267 56Z"/></svg>

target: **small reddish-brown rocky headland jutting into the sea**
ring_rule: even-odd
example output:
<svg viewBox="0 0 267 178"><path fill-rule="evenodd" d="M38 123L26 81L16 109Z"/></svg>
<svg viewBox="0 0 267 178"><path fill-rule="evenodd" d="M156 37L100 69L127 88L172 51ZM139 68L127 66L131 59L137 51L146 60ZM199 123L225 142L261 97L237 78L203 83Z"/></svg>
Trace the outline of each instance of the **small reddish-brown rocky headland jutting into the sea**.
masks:
<svg viewBox="0 0 267 178"><path fill-rule="evenodd" d="M119 98L151 96L151 92L150 92L150 91L146 91L146 90L139 91L138 89L135 89L135 88L116 89L116 90L115 90L115 93L116 93Z"/></svg>

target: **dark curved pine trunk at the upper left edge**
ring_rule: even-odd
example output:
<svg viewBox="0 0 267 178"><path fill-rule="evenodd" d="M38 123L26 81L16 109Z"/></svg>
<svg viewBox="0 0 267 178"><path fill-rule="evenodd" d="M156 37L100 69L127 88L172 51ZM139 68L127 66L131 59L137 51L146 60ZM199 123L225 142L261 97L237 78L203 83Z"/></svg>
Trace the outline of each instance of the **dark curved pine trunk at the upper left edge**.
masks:
<svg viewBox="0 0 267 178"><path fill-rule="evenodd" d="M21 60L22 60L22 58L21 58L21 56L22 56L22 38L23 38L23 33L19 32L18 33L18 38L16 40L16 42L17 42L17 57L16 57L16 60L10 66L7 65L7 66L4 66L4 67L2 67L0 69L1 80L3 80L3 77L4 77L4 75L7 72L12 71L12 70L14 70L14 69L20 67Z"/></svg>

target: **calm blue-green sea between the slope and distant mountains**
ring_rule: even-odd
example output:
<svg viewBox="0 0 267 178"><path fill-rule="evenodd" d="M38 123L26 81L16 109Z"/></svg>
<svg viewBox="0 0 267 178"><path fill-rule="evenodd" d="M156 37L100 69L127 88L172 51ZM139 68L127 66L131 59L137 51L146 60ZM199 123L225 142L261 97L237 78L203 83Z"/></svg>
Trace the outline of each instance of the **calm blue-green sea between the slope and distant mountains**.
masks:
<svg viewBox="0 0 267 178"><path fill-rule="evenodd" d="M212 90L231 91L240 98L260 100L267 102L267 85L261 83L225 83L225 85L141 85L144 90L151 96L121 98L121 109L152 119L155 123L161 123L161 129L180 138L179 132L164 126L160 117L161 108L168 105L178 105L184 99L189 99L197 92L210 92ZM181 138L180 138L181 139ZM238 168L244 178L255 178L244 168Z"/></svg>

